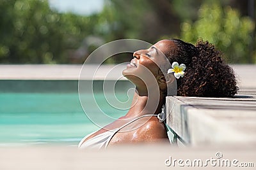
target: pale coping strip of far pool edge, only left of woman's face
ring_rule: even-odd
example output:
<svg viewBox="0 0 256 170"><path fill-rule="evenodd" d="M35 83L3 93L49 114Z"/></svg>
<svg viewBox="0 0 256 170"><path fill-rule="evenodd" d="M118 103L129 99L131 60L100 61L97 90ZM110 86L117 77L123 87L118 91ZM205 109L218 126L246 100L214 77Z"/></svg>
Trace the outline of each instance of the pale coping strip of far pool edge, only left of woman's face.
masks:
<svg viewBox="0 0 256 170"><path fill-rule="evenodd" d="M0 80L127 80L122 77L122 70L125 67L125 64L2 64Z"/></svg>

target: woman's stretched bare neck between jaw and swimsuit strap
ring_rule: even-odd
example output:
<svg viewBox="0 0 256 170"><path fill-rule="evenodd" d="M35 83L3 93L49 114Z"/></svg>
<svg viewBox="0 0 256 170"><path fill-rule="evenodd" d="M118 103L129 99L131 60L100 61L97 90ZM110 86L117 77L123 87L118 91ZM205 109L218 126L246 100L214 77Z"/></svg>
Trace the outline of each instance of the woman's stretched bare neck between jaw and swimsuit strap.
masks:
<svg viewBox="0 0 256 170"><path fill-rule="evenodd" d="M145 91L136 87L131 108L125 117L131 118L161 113L161 109L164 103L165 96L159 92L159 90L148 89L148 91Z"/></svg>

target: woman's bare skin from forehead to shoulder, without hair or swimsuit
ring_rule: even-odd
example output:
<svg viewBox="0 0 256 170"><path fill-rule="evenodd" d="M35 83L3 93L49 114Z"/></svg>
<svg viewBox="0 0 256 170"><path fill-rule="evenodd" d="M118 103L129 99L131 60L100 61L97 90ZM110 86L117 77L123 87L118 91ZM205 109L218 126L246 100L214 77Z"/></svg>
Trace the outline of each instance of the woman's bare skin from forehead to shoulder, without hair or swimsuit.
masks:
<svg viewBox="0 0 256 170"><path fill-rule="evenodd" d="M136 117L161 113L161 107L165 102L162 91L166 90L166 78L163 74L159 74L158 66L168 62L165 55L168 55L172 48L177 48L172 40L161 40L146 50L133 53L134 59L122 72L136 86L130 110L124 117L106 125L85 141L103 132L121 127ZM143 117L120 129L111 139L109 146L117 143L156 141L168 141L164 124L160 123L157 117Z"/></svg>

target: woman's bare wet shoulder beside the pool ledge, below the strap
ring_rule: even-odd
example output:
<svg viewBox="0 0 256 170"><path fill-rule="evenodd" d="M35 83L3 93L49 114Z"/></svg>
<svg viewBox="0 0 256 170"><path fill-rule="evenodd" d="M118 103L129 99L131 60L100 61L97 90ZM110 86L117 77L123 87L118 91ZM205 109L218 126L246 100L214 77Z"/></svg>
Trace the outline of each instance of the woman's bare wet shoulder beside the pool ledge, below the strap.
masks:
<svg viewBox="0 0 256 170"><path fill-rule="evenodd" d="M157 117L150 118L137 132L145 141L168 138L164 124L159 122Z"/></svg>

